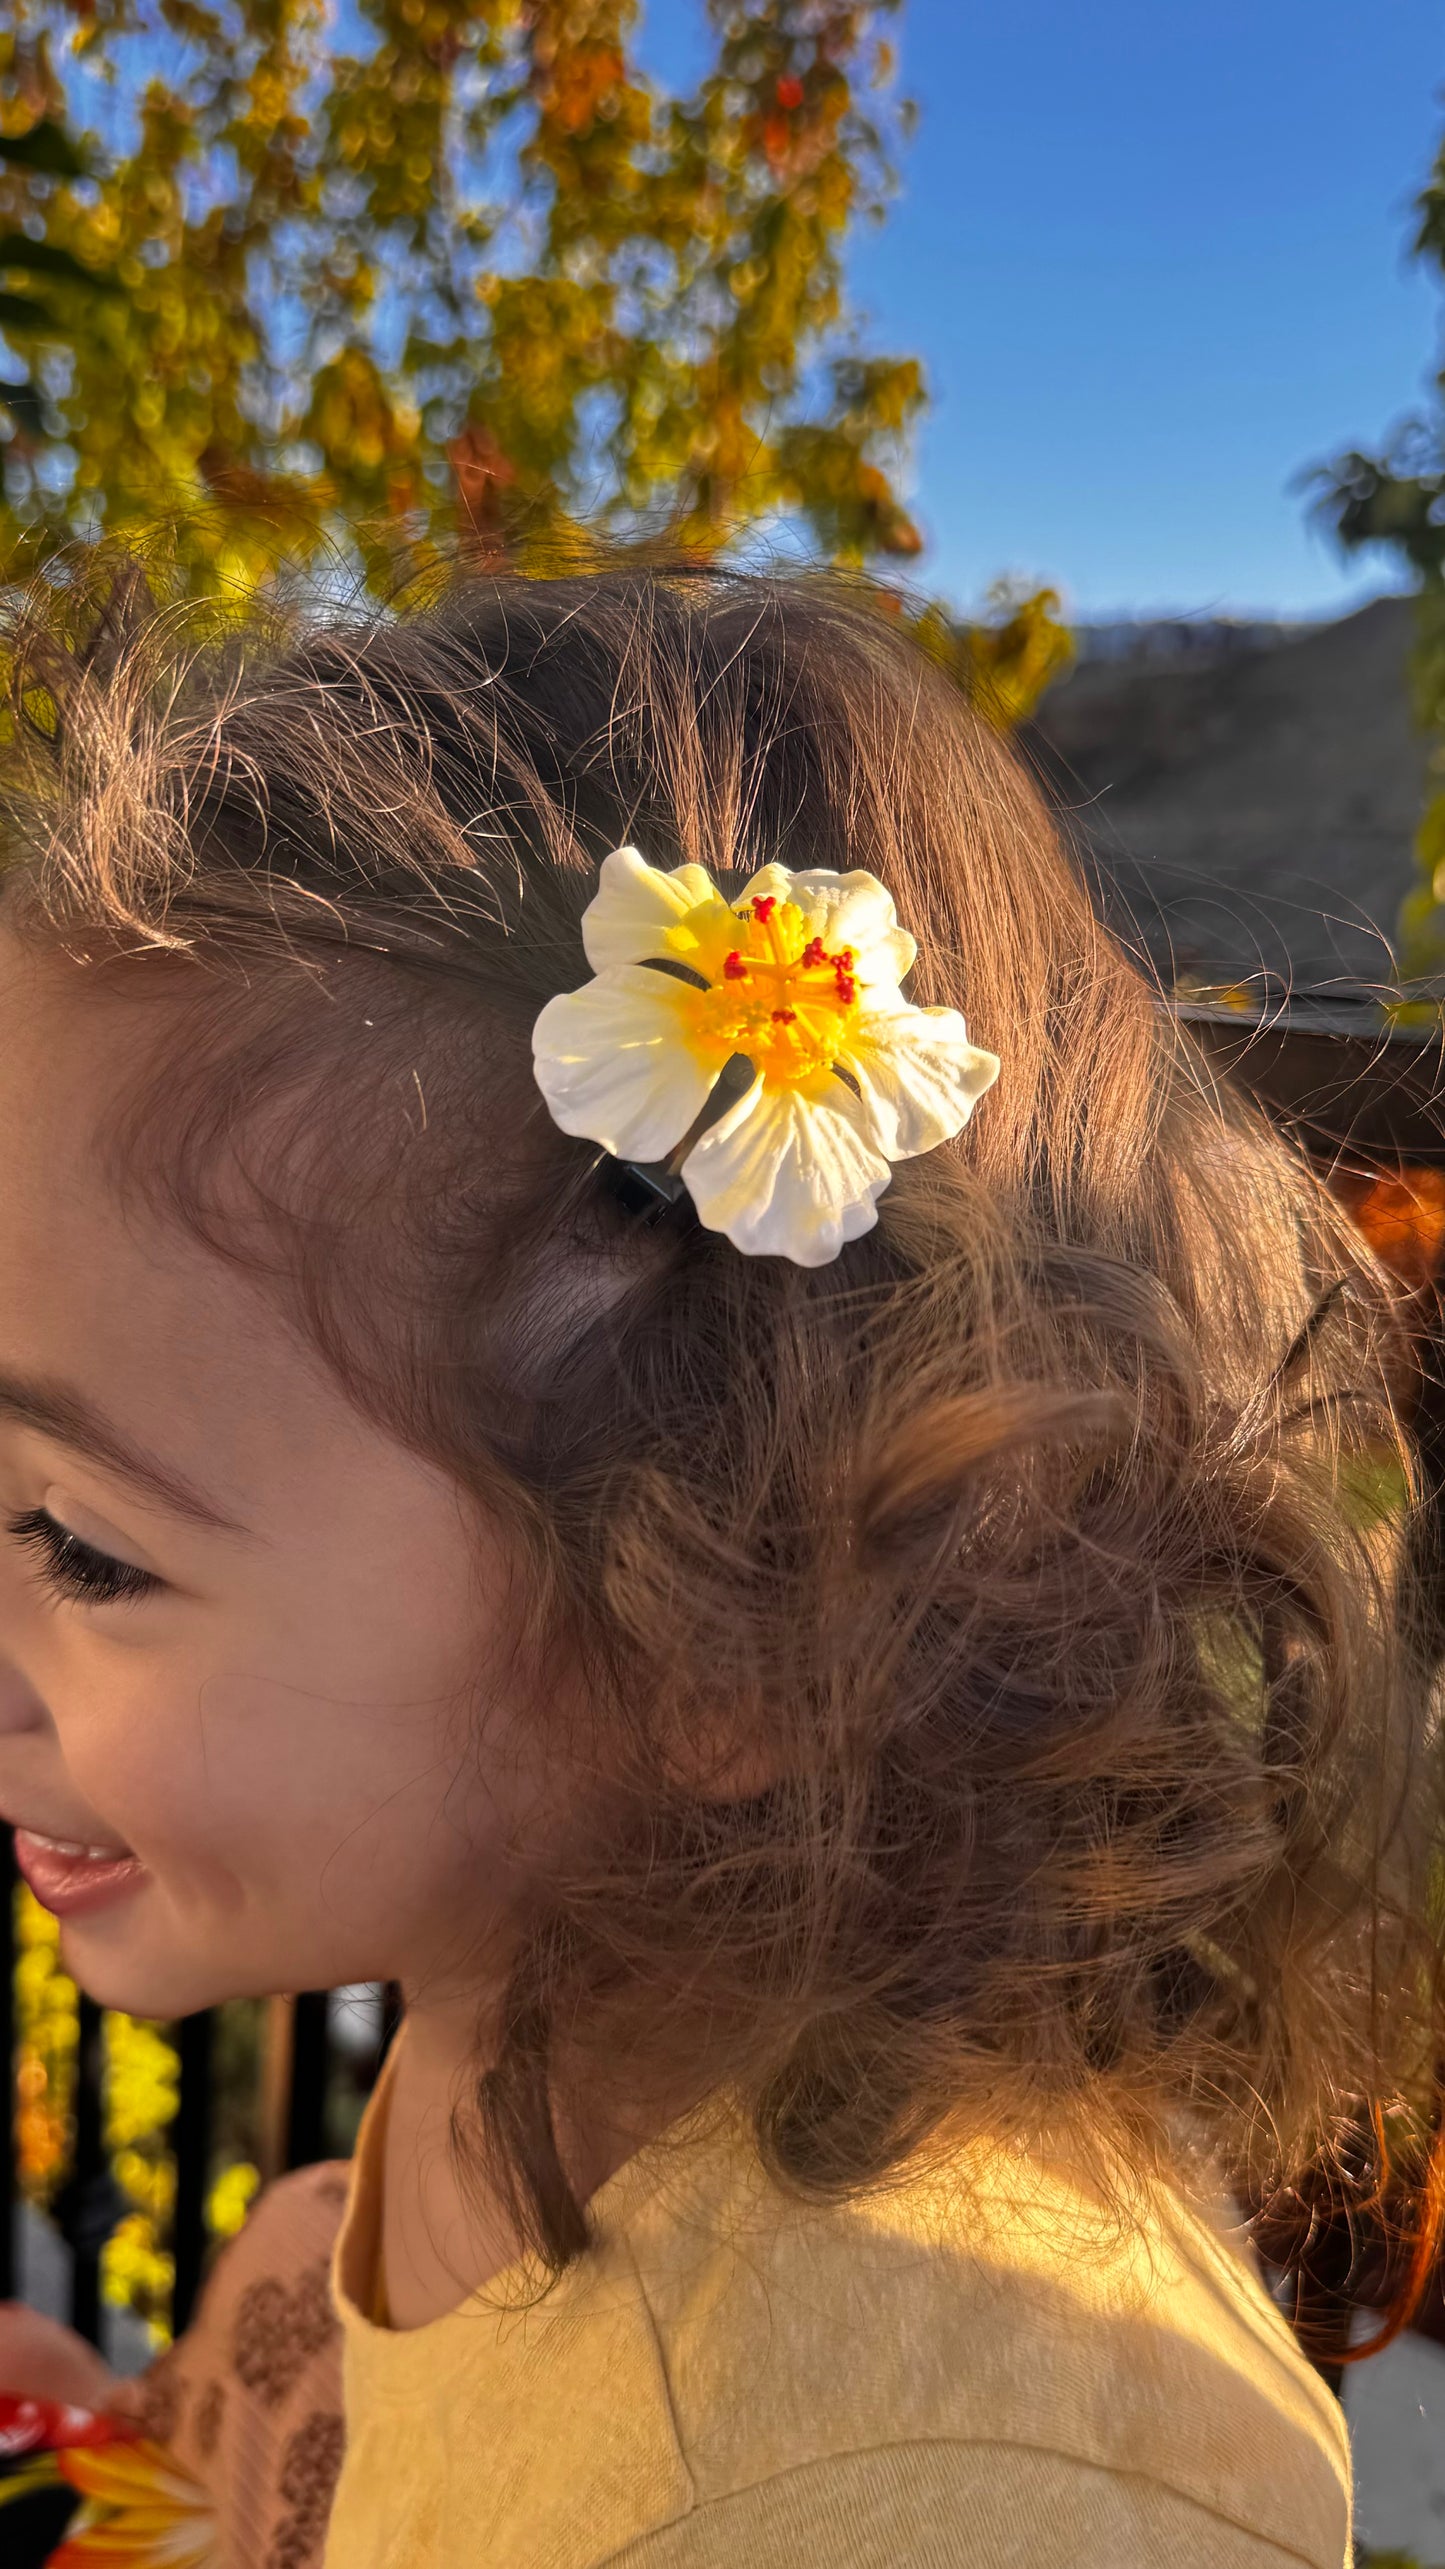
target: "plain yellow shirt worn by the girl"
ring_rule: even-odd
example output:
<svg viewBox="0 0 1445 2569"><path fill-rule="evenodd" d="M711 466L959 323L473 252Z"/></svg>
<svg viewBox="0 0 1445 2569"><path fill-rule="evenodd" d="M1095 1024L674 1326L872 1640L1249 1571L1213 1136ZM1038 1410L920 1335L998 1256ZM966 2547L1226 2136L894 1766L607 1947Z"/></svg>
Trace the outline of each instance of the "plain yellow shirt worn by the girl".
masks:
<svg viewBox="0 0 1445 2569"><path fill-rule="evenodd" d="M1337 2402L1183 2199L1100 2232L1062 2171L797 2207L740 2127L594 2199L597 2245L429 2328L375 2307L386 2081L332 2289L327 2569L1342 2569ZM512 2307L507 2307L512 2304Z"/></svg>

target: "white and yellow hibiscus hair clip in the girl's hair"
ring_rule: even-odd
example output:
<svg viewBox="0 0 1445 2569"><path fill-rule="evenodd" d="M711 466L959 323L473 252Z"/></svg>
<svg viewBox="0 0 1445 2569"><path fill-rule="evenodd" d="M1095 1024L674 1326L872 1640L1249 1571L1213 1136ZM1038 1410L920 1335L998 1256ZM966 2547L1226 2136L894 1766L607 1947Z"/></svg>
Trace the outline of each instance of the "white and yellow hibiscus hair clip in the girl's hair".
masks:
<svg viewBox="0 0 1445 2569"><path fill-rule="evenodd" d="M874 873L764 866L728 902L615 848L581 943L594 979L532 1030L553 1120L748 1256L825 1267L998 1079L954 1007L902 997L918 945Z"/></svg>

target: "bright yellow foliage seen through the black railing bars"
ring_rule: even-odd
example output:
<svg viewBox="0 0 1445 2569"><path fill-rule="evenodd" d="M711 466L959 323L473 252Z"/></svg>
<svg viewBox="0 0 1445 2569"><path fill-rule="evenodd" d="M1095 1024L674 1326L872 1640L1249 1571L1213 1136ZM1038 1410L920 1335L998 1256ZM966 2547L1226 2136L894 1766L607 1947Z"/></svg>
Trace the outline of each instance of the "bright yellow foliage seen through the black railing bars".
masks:
<svg viewBox="0 0 1445 2569"><path fill-rule="evenodd" d="M57 1922L21 1886L15 1893L15 2148L21 2194L49 2209L72 2150L75 2063L80 2050L77 1988L59 1963ZM242 2227L260 2176L237 2148L249 2140L257 2083L255 2009L221 2009L216 2094L221 2099L219 2171L206 2217L216 2238ZM170 2217L175 2153L170 2125L180 2094L180 2058L162 2024L105 2014L105 2153L129 2204L100 2258L100 2289L113 2307L134 2310L152 2340L170 2335ZM247 2040L249 2035L249 2040ZM237 2135L237 2107L242 2135Z"/></svg>

